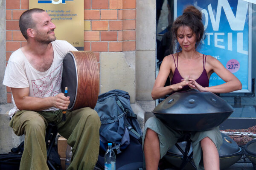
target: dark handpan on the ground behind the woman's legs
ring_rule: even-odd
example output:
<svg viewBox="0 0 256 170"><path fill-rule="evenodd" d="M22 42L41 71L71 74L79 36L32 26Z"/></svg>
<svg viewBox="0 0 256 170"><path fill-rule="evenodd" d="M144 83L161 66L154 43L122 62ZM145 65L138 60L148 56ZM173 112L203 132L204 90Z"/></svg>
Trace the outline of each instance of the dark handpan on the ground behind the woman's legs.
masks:
<svg viewBox="0 0 256 170"><path fill-rule="evenodd" d="M221 145L220 150L218 150L220 157L220 169L224 170L227 167L235 164L241 156L243 155L243 150L239 147L233 139L221 133L223 144ZM186 142L179 142L180 147L185 150ZM190 146L189 154L192 152L192 146ZM182 153L177 149L176 146L173 146L166 155L164 159L175 167L179 167L182 163ZM194 167L188 162L184 170L195 170Z"/></svg>

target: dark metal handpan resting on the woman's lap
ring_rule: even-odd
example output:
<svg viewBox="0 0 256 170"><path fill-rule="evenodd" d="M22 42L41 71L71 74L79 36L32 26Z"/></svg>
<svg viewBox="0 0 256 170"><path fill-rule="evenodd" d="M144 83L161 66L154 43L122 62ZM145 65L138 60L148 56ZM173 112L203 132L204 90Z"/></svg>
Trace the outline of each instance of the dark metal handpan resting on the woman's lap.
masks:
<svg viewBox="0 0 256 170"><path fill-rule="evenodd" d="M152 112L172 129L204 131L220 125L233 111L212 92L190 89L170 95Z"/></svg>

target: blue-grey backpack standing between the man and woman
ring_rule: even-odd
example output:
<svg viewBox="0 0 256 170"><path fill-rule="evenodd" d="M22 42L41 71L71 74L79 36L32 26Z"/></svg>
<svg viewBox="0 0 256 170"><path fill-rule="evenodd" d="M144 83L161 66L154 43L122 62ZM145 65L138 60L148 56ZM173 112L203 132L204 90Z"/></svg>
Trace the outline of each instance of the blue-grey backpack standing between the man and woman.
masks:
<svg viewBox="0 0 256 170"><path fill-rule="evenodd" d="M98 97L94 110L99 114L100 148L106 151L108 142L119 154L130 144L130 136L142 143L142 130L132 111L130 96L122 90L112 90Z"/></svg>

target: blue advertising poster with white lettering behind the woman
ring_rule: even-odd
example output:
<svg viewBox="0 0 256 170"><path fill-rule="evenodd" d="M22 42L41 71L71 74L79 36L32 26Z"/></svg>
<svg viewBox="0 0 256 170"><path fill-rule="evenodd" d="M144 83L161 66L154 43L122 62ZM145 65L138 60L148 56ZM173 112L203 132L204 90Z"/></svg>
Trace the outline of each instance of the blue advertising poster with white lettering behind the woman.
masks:
<svg viewBox="0 0 256 170"><path fill-rule="evenodd" d="M202 12L206 38L199 52L218 59L251 92L251 4L243 0L176 0L175 18L187 5ZM217 74L209 86L223 84Z"/></svg>

